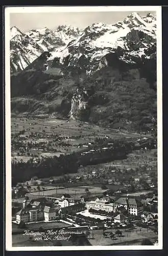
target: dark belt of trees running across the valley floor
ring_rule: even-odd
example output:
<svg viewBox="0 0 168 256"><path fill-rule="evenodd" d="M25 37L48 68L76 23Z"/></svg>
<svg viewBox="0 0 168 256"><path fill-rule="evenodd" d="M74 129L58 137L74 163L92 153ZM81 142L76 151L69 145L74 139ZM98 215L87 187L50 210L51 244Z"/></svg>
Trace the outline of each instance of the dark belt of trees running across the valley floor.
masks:
<svg viewBox="0 0 168 256"><path fill-rule="evenodd" d="M86 156L80 153L70 155L60 155L51 158L43 158L41 161L34 163L12 162L12 183L29 180L33 176L40 178L59 176L68 173L76 173L80 165L97 164L108 162L112 159L122 159L126 157L125 145L117 145L114 150L107 152L99 151Z"/></svg>

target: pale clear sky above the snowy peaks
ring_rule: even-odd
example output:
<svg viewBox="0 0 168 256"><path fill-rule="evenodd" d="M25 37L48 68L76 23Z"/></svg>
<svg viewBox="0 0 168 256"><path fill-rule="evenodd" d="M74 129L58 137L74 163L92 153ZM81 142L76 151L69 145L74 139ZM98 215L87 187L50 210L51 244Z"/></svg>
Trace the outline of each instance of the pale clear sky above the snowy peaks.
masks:
<svg viewBox="0 0 168 256"><path fill-rule="evenodd" d="M85 28L93 23L114 24L122 21L131 12L57 12L57 13L10 13L10 27L17 27L22 32L47 27L55 29L59 25L71 25ZM148 12L138 11L140 16ZM153 13L153 12L150 12Z"/></svg>

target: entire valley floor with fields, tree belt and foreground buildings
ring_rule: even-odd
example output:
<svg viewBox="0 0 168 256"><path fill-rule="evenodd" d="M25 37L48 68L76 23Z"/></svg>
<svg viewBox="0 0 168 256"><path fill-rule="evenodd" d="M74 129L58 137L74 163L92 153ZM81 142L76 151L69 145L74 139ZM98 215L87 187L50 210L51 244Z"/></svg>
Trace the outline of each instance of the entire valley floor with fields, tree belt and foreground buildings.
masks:
<svg viewBox="0 0 168 256"><path fill-rule="evenodd" d="M89 245L157 244L155 138L126 139L75 121L29 122L12 128L13 245L38 245L41 238L27 239L25 230L60 229L81 230Z"/></svg>

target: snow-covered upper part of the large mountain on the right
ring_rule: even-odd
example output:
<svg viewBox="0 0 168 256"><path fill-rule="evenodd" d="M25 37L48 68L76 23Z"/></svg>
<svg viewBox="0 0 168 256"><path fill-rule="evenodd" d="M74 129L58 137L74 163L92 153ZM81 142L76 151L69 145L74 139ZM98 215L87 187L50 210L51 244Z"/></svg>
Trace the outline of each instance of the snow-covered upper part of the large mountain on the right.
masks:
<svg viewBox="0 0 168 256"><path fill-rule="evenodd" d="M58 57L60 63L66 62L68 67L84 68L87 74L108 65L104 57L112 52L127 63L136 63L141 56L150 57L146 53L150 48L155 49L155 31L155 16L140 17L132 13L114 25L98 23L88 26L53 56Z"/></svg>

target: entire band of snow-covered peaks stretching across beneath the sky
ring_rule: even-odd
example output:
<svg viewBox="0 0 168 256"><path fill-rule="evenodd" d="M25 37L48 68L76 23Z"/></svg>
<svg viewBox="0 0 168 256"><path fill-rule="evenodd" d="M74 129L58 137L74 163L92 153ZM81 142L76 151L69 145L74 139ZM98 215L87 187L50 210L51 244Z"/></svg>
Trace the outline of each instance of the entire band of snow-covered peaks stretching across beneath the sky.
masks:
<svg viewBox="0 0 168 256"><path fill-rule="evenodd" d="M91 74L111 65L109 54L116 53L127 63L136 63L141 58L150 58L156 51L156 16L140 17L136 12L122 22L113 25L92 24L84 30L68 25L55 30L36 29L20 32L11 31L11 71L22 70L44 51L50 52L46 69L53 68L53 62L64 69ZM24 48L24 42L30 44ZM17 46L23 45L23 51ZM31 51L30 51L31 49ZM57 61L56 61L57 60Z"/></svg>

